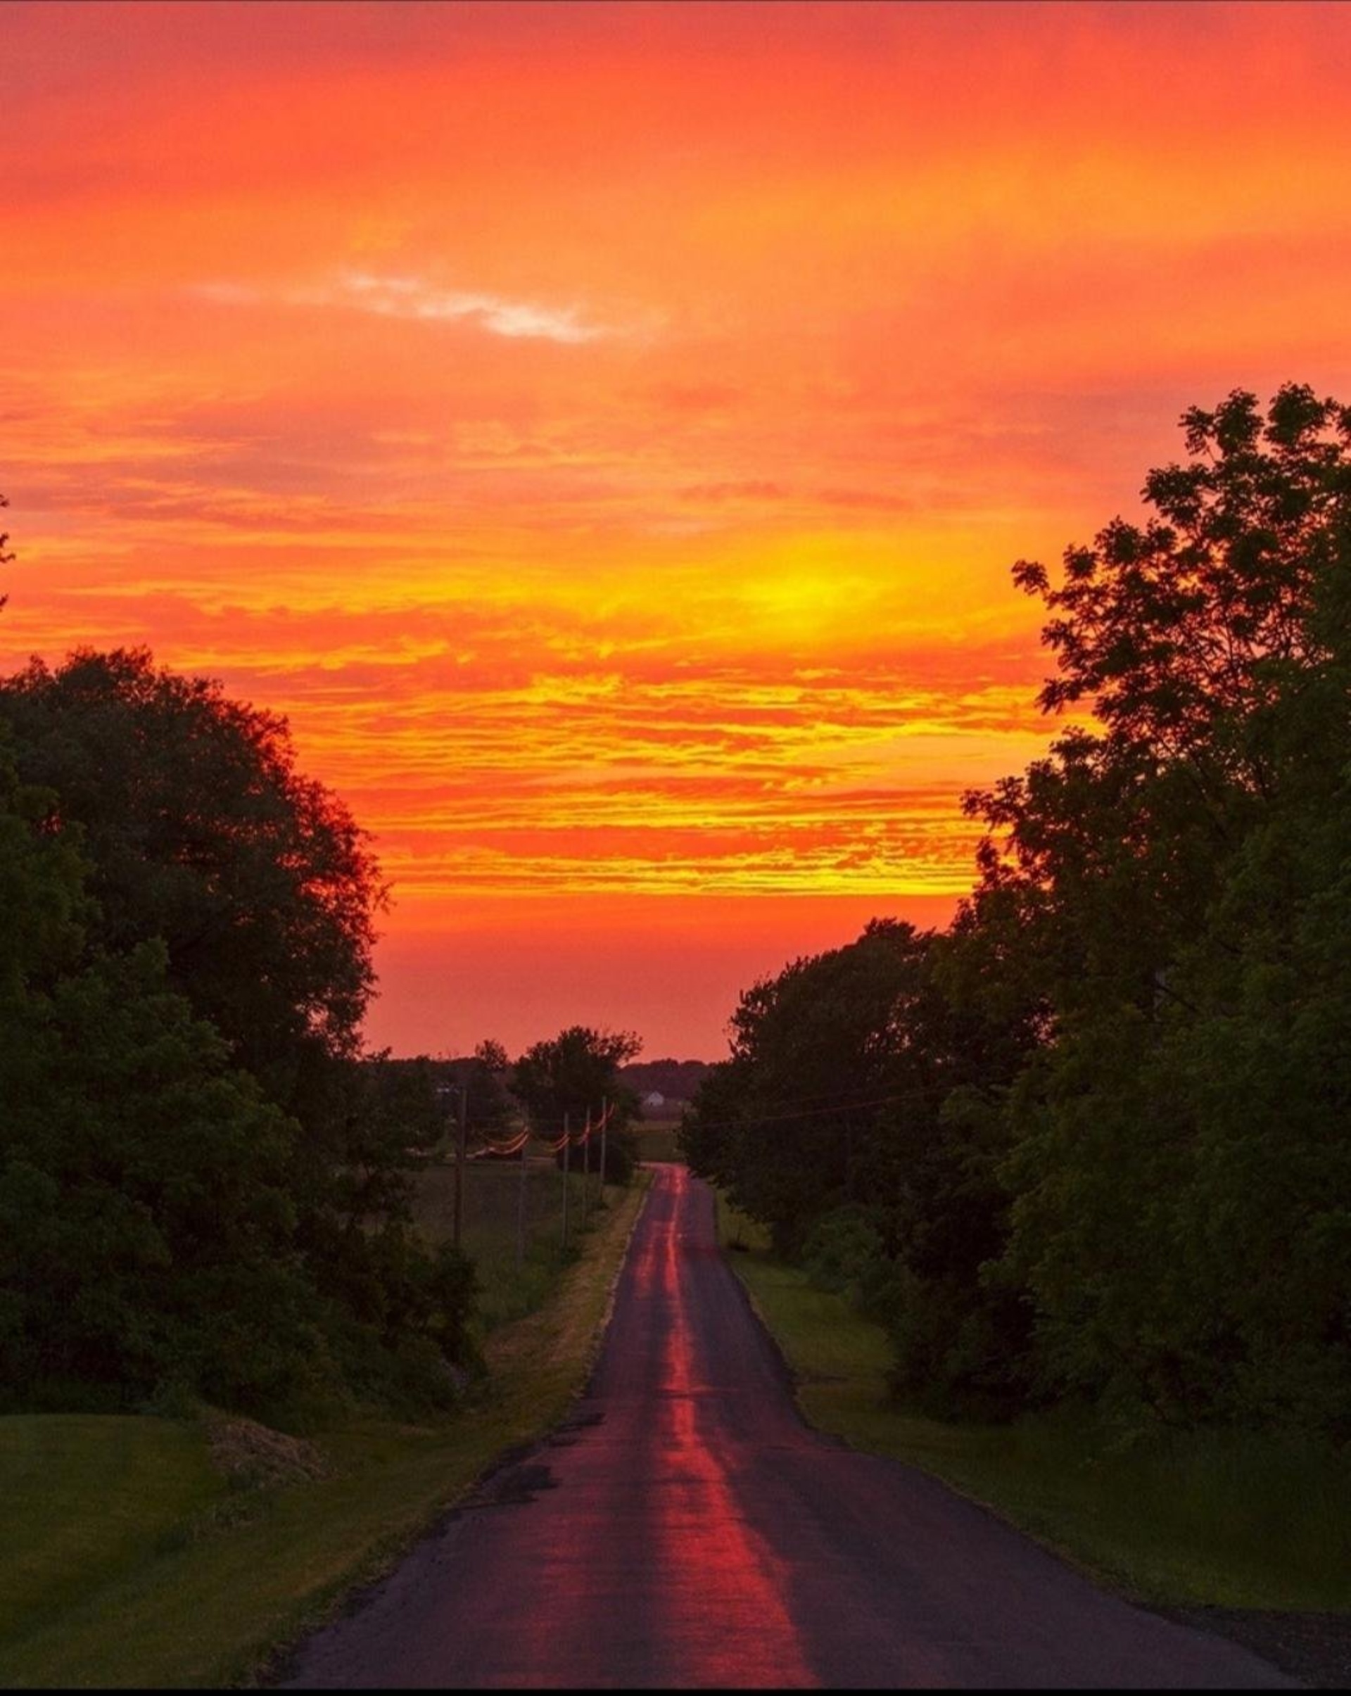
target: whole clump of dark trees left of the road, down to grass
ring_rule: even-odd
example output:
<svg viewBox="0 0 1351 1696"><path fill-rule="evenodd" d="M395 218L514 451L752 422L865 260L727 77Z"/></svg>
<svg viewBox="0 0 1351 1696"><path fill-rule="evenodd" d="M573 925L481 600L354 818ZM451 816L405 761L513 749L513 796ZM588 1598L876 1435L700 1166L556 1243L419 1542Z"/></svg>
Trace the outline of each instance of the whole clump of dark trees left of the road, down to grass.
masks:
<svg viewBox="0 0 1351 1696"><path fill-rule="evenodd" d="M0 850L0 1382L448 1401L473 1275L358 1060L378 875L285 726L144 653L34 663Z"/></svg>

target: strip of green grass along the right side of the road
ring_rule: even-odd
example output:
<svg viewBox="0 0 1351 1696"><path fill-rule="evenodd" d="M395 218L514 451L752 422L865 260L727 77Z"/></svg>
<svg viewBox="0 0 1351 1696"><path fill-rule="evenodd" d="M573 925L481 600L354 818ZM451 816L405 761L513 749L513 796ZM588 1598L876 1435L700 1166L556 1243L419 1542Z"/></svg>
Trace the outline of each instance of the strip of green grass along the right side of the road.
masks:
<svg viewBox="0 0 1351 1696"><path fill-rule="evenodd" d="M1351 1460L1237 1431L1126 1440L1087 1413L946 1425L888 1401L887 1336L776 1262L719 1197L729 1260L822 1431L907 1460L1097 1577L1158 1604L1351 1608Z"/></svg>

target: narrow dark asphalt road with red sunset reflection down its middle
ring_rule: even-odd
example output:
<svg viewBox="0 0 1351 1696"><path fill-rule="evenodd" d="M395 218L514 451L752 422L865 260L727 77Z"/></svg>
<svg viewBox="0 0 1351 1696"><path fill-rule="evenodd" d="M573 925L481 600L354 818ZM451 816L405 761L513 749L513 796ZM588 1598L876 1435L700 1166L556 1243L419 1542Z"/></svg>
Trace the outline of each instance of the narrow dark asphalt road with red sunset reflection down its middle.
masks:
<svg viewBox="0 0 1351 1696"><path fill-rule="evenodd" d="M985 1509L815 1437L664 1167L570 1425L495 1474L293 1688L1295 1688Z"/></svg>

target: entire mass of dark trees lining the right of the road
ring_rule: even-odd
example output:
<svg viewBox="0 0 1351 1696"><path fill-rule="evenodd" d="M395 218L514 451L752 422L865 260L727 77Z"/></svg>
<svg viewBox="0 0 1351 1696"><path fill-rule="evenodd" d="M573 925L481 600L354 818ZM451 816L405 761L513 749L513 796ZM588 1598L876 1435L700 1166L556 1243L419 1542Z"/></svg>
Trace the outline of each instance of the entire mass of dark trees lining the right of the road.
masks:
<svg viewBox="0 0 1351 1696"><path fill-rule="evenodd" d="M946 933L758 982L692 1165L888 1326L905 1398L1351 1438L1351 409L1183 419L1053 582L1078 709L966 797Z"/></svg>

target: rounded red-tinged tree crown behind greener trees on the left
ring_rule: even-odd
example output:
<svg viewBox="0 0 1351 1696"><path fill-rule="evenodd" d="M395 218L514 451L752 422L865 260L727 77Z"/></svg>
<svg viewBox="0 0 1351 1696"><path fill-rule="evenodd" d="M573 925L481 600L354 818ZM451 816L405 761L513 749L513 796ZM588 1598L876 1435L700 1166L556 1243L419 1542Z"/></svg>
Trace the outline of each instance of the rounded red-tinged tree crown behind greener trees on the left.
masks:
<svg viewBox="0 0 1351 1696"><path fill-rule="evenodd" d="M158 936L170 982L237 1062L305 1109L307 1052L353 1055L381 884L342 802L295 768L286 724L144 650L34 660L0 682L19 775L78 826L110 950Z"/></svg>

